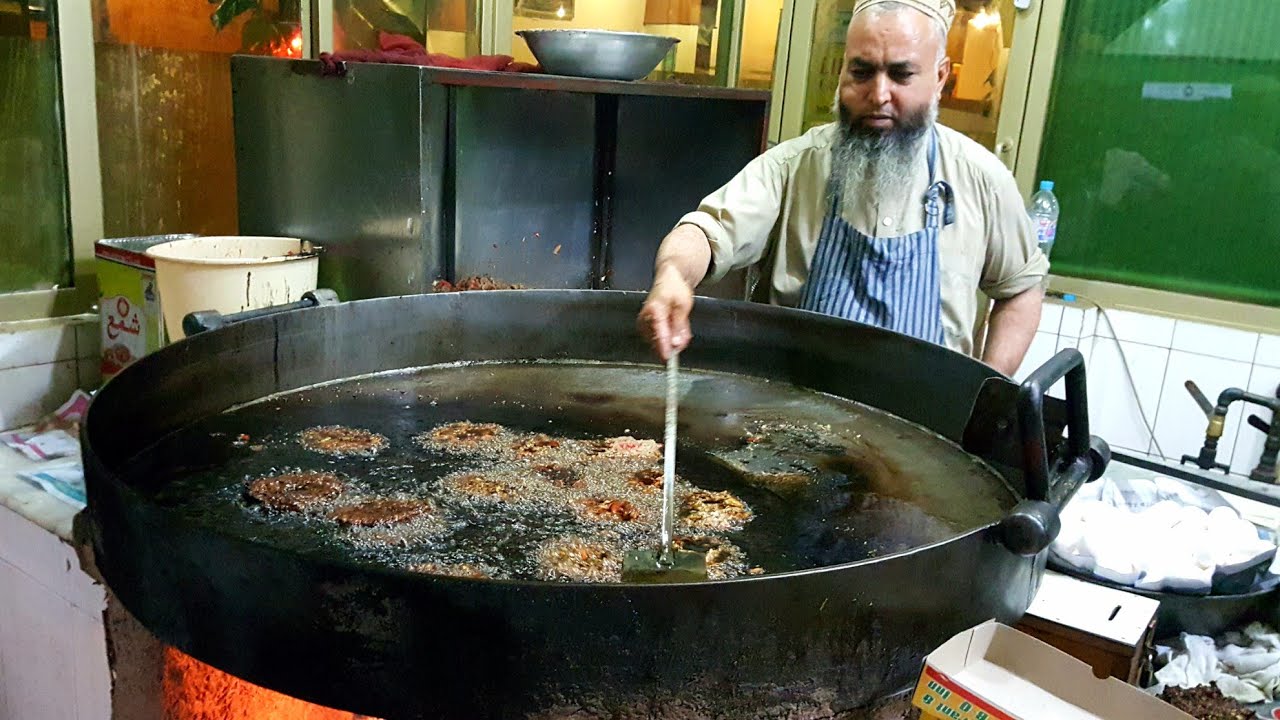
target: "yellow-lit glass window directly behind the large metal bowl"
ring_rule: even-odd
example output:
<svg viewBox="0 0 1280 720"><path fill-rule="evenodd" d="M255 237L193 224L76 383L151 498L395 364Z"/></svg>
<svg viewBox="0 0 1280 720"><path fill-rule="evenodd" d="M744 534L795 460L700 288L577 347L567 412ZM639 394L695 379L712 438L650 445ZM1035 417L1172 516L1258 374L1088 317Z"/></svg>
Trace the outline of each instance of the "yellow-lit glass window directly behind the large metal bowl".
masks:
<svg viewBox="0 0 1280 720"><path fill-rule="evenodd" d="M648 79L726 86L730 45L719 31L732 24L735 1L742 0L512 0L512 29L613 29L675 37L680 42ZM536 61L520 37L512 40L512 55Z"/></svg>

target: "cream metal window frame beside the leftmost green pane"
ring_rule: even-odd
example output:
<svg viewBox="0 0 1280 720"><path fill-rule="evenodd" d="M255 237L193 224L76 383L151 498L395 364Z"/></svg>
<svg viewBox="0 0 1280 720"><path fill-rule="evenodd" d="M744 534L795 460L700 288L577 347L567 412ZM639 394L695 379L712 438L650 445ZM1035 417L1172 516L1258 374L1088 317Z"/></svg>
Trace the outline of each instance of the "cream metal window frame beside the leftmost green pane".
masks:
<svg viewBox="0 0 1280 720"><path fill-rule="evenodd" d="M92 259L93 243L102 237L102 170L97 154L93 17L90 4L83 1L59 3L55 13L67 149L72 286L0 293L0 322L74 315L84 313L97 301Z"/></svg>

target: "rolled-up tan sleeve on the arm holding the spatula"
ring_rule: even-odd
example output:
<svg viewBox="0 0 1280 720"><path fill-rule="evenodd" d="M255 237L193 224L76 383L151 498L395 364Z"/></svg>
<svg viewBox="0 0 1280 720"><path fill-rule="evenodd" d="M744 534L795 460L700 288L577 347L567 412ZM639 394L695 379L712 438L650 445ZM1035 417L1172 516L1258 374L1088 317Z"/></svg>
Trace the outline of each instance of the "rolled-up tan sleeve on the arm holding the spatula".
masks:
<svg viewBox="0 0 1280 720"><path fill-rule="evenodd" d="M786 163L765 152L708 195L698 210L680 219L677 224L698 225L710 241L712 268L704 284L764 256L778 222L786 182Z"/></svg>

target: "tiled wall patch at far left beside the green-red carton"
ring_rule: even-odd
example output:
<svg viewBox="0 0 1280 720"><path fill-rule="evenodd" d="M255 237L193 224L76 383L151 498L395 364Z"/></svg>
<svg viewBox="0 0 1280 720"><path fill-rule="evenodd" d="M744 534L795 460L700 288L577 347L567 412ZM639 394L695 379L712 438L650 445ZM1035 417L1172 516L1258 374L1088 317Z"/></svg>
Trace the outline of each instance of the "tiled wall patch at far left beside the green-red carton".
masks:
<svg viewBox="0 0 1280 720"><path fill-rule="evenodd" d="M0 429L40 419L100 384L97 315L0 323Z"/></svg>

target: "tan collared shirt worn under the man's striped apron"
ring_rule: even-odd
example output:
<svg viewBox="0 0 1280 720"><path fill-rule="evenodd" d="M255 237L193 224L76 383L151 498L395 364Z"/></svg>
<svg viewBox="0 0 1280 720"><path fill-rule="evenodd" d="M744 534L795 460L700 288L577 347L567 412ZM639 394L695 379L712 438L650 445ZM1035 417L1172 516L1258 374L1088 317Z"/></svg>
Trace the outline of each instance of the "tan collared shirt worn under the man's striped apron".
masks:
<svg viewBox="0 0 1280 720"><path fill-rule="evenodd" d="M1044 278L1048 260L1036 245L1009 169L964 135L937 128L936 179L955 191L956 220L938 237L942 331L947 347L972 355L978 291L993 300L1020 295ZM800 302L831 208L827 181L837 135L831 123L769 149L680 219L698 225L710 240L713 266L704 284L764 260L760 284L767 287L758 288L755 297L776 305ZM919 172L906 192L879 206L869 199L854 199L842 210L849 224L874 237L900 237L924 228L928 142L922 145Z"/></svg>

